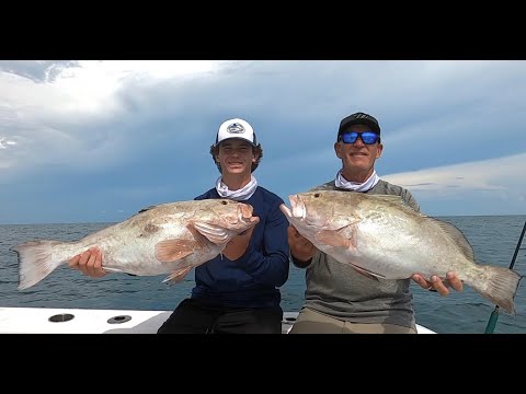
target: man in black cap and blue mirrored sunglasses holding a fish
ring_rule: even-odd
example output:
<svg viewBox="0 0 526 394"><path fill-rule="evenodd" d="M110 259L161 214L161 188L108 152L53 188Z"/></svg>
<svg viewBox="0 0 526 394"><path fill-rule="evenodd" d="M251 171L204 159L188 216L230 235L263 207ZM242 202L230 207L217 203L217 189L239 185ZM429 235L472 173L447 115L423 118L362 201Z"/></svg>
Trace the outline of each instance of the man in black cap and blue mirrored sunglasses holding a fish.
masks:
<svg viewBox="0 0 526 394"><path fill-rule="evenodd" d="M333 181L315 189L399 195L420 210L411 193L378 177L375 162L382 152L380 126L365 113L342 119L334 151L342 169ZM416 326L410 291L410 279L373 280L352 267L318 251L294 227L288 229L290 256L297 267L306 268L305 304L290 333L408 333ZM412 276L422 288L447 296L449 290L438 277L431 282L418 273ZM447 274L457 291L462 283L454 273Z"/></svg>

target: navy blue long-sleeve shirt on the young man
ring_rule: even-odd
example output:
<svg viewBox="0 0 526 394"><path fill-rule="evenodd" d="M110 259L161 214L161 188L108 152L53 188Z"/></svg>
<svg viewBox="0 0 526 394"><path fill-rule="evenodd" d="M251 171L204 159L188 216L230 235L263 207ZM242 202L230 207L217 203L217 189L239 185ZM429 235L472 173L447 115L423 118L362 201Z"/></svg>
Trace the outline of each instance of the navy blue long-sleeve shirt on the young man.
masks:
<svg viewBox="0 0 526 394"><path fill-rule="evenodd" d="M195 199L220 198L215 188ZM244 254L232 262L225 255L195 268L192 298L230 308L279 308L279 287L288 279L288 220L283 199L258 186L242 202L260 218Z"/></svg>

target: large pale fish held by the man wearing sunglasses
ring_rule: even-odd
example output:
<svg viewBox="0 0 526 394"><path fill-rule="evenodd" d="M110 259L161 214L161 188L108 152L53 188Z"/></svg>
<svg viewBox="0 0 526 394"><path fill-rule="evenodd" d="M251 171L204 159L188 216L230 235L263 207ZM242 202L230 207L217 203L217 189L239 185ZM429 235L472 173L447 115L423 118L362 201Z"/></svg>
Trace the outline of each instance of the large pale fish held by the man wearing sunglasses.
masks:
<svg viewBox="0 0 526 394"><path fill-rule="evenodd" d="M426 280L457 274L464 283L514 315L522 276L477 264L465 235L450 223L416 212L399 196L340 190L290 195L281 209L296 230L318 250L378 280Z"/></svg>

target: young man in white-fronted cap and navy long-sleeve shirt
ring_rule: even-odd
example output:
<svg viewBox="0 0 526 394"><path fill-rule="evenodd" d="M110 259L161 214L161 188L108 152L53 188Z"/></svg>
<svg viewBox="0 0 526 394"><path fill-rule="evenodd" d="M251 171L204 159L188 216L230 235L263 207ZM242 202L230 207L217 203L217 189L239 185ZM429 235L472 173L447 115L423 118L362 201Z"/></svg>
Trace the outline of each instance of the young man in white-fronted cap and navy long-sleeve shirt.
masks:
<svg viewBox="0 0 526 394"><path fill-rule="evenodd" d="M172 333L281 334L283 310L278 288L289 270L288 221L283 199L258 185L252 175L263 149L243 119L224 121L210 147L220 176L195 199L230 198L254 208L260 222L232 239L221 255L195 268L192 296L159 328ZM100 251L84 252L70 266L92 277L104 275Z"/></svg>

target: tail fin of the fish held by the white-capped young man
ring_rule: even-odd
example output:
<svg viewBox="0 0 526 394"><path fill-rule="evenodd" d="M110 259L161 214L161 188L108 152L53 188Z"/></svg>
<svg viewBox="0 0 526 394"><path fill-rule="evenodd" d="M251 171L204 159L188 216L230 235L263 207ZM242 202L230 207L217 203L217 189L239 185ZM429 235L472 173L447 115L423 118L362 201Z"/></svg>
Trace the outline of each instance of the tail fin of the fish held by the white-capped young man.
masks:
<svg viewBox="0 0 526 394"><path fill-rule="evenodd" d="M11 248L19 255L19 290L27 289L52 274L64 262L53 259L58 241L30 241Z"/></svg>

